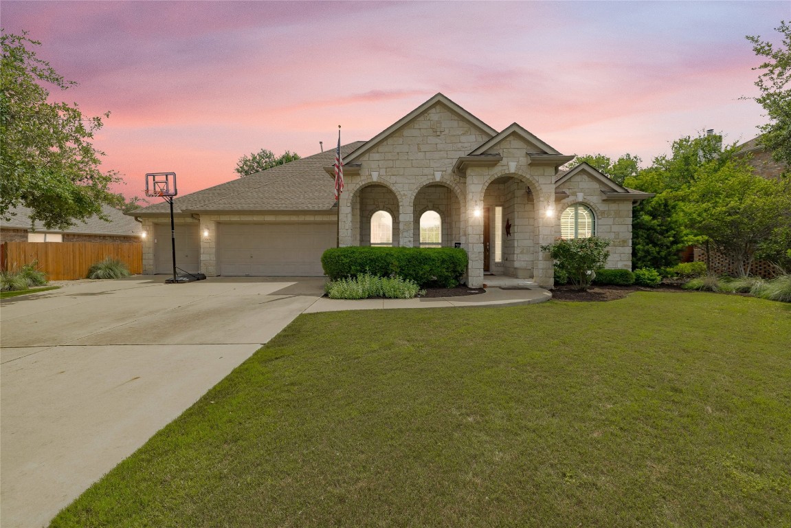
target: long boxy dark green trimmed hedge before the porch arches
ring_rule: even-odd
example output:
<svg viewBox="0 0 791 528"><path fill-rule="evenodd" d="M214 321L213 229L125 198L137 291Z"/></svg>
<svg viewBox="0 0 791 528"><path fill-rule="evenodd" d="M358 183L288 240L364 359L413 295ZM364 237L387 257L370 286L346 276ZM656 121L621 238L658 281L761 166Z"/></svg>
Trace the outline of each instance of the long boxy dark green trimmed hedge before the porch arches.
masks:
<svg viewBox="0 0 791 528"><path fill-rule="evenodd" d="M420 287L454 287L467 272L467 252L459 248L331 248L321 256L321 267L332 280L370 272L412 280Z"/></svg>

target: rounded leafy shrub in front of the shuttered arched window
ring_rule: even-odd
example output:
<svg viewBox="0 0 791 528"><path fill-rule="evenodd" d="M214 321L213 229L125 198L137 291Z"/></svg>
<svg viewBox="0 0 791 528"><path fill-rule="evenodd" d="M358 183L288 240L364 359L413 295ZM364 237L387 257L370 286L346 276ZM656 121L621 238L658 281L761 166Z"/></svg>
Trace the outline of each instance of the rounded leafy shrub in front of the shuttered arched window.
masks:
<svg viewBox="0 0 791 528"><path fill-rule="evenodd" d="M542 245L541 250L550 254L557 268L566 272L575 287L585 290L591 285L595 271L604 268L610 256L608 245L610 241L599 237L558 238L552 244Z"/></svg>

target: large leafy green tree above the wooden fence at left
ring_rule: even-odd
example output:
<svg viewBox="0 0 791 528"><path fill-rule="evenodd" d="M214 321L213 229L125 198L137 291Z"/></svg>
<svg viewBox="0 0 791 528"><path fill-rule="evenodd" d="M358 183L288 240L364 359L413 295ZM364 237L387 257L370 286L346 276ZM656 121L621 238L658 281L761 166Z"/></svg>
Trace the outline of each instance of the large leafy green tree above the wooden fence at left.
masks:
<svg viewBox="0 0 791 528"><path fill-rule="evenodd" d="M32 210L32 221L62 229L74 220L101 217L104 203L116 205L109 187L119 177L100 170L104 153L91 142L101 117L83 116L77 104L47 102L44 85L68 89L75 83L36 57L32 47L39 45L27 33L2 33L0 217L9 218L22 205Z"/></svg>

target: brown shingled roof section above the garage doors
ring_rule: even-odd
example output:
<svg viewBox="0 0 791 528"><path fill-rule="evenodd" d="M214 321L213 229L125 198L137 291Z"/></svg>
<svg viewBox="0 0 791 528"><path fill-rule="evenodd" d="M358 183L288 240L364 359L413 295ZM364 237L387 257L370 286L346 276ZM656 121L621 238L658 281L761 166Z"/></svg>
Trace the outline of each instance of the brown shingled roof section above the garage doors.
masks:
<svg viewBox="0 0 791 528"><path fill-rule="evenodd" d="M341 146L341 154L358 148L358 141ZM227 181L224 184L176 196L173 211L328 211L335 205L334 182L327 178L324 165L335 161L335 149L290 161L260 173ZM168 203L154 203L128 215L169 215Z"/></svg>

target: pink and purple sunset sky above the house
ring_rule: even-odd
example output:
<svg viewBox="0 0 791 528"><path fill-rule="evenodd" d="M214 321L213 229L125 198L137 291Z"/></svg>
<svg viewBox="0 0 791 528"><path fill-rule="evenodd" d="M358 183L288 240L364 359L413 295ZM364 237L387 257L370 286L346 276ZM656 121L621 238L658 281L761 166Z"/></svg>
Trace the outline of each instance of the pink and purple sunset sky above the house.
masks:
<svg viewBox="0 0 791 528"><path fill-rule="evenodd" d="M745 35L779 41L780 2L2 2L6 32L79 83L117 190L174 171L180 194L242 154L370 139L442 92L566 154L629 152L764 122Z"/></svg>

